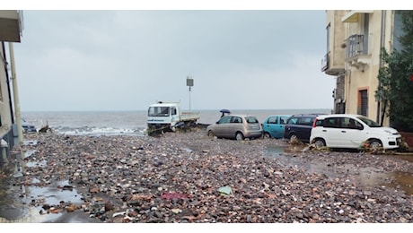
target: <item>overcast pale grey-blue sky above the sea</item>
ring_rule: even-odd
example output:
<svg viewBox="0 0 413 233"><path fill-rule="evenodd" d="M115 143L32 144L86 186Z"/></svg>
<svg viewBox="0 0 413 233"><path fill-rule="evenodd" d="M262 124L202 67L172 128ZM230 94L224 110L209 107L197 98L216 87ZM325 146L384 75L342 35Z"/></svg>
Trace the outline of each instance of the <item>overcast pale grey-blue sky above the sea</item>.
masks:
<svg viewBox="0 0 413 233"><path fill-rule="evenodd" d="M36 6L13 43L22 111L333 108L325 10Z"/></svg>

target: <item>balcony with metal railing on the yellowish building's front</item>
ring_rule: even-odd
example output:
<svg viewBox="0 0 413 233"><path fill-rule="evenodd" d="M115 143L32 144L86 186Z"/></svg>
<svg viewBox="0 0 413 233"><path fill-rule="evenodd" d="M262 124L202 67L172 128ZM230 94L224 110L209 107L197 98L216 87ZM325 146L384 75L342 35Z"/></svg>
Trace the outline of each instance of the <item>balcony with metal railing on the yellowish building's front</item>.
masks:
<svg viewBox="0 0 413 233"><path fill-rule="evenodd" d="M365 35L352 35L346 41L346 61L349 65L364 71L371 56L368 55L368 40Z"/></svg>

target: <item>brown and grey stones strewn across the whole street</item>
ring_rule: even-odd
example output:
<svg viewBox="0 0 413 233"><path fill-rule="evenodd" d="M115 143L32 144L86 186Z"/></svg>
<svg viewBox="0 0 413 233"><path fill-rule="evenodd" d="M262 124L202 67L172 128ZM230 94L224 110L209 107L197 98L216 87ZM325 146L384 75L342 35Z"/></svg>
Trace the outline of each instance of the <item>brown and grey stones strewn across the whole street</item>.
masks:
<svg viewBox="0 0 413 233"><path fill-rule="evenodd" d="M412 195L360 180L365 169L367 176L413 170L394 156L303 150L294 142L286 156L270 157L268 145L286 143L211 140L203 129L158 137L31 137L39 143L25 160L47 165L25 168L16 183L68 179L63 188L82 194L90 203L83 211L102 222L413 222ZM306 169L310 164L334 165L334 177Z"/></svg>

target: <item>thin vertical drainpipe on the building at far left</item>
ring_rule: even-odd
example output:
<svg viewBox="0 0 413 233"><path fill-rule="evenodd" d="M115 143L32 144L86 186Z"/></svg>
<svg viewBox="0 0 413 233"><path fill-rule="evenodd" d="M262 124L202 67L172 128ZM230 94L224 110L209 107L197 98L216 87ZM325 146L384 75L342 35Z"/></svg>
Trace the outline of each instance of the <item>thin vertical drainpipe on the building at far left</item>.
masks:
<svg viewBox="0 0 413 233"><path fill-rule="evenodd" d="M14 51L13 51L13 42L9 42L10 50L10 63L12 65L12 82L13 82L13 99L14 99L14 110L16 116L17 124L17 133L19 135L19 145L23 143L23 132L22 132L22 117L20 114L20 100L19 100L19 91L17 91L17 76L16 68L14 66Z"/></svg>

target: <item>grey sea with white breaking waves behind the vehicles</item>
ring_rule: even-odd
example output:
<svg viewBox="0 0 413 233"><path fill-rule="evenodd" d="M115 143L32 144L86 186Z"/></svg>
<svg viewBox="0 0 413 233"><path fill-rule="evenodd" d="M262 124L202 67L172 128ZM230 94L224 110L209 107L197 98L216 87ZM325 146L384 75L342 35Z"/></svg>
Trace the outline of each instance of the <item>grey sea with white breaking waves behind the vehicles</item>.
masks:
<svg viewBox="0 0 413 233"><path fill-rule="evenodd" d="M199 113L199 124L215 123L222 113L217 110L192 110ZM256 116L262 123L277 114L331 113L331 109L238 109L233 114ZM145 136L146 110L136 111L22 111L21 116L37 130L48 125L57 134L68 135L136 135Z"/></svg>

